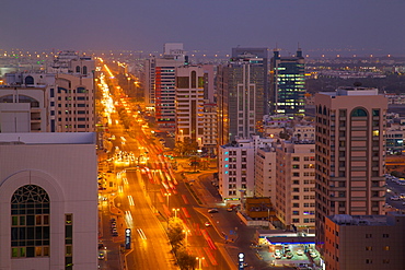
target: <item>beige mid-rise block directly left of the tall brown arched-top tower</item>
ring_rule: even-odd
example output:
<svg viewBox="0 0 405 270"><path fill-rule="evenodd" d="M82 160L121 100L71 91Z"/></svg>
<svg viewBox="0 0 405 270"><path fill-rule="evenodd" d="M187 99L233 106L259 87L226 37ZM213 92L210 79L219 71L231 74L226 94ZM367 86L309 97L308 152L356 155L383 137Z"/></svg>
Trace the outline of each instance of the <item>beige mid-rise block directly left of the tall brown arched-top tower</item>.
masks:
<svg viewBox="0 0 405 270"><path fill-rule="evenodd" d="M315 143L284 141L277 146L275 198L271 198L282 227L315 225Z"/></svg>

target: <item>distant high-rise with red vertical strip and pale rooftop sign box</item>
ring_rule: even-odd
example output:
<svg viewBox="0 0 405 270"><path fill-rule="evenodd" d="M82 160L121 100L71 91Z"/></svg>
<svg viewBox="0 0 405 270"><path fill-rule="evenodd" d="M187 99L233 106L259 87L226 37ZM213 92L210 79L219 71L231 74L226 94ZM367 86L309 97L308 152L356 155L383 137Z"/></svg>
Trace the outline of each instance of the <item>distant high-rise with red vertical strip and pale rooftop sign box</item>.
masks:
<svg viewBox="0 0 405 270"><path fill-rule="evenodd" d="M144 101L161 129L175 130L175 69L186 63L183 44L165 44L162 58L146 61Z"/></svg>

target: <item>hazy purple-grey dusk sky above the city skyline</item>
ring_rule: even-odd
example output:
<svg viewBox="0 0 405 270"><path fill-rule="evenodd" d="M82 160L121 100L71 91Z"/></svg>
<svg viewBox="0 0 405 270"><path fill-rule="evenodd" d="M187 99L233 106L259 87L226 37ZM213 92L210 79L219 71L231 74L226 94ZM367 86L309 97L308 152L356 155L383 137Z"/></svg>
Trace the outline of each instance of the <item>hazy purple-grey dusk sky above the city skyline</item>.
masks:
<svg viewBox="0 0 405 270"><path fill-rule="evenodd" d="M404 0L3 0L0 49L405 55ZM324 51L350 48L350 51Z"/></svg>

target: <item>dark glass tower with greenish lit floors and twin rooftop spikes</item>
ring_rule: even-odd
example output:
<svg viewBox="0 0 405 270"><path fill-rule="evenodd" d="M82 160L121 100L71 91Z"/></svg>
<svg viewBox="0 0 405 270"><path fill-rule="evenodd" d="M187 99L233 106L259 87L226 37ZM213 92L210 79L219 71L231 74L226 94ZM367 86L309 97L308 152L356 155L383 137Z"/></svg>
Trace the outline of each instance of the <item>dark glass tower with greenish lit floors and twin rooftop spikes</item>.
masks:
<svg viewBox="0 0 405 270"><path fill-rule="evenodd" d="M296 56L281 57L275 49L270 59L270 114L304 115L304 63L301 49Z"/></svg>

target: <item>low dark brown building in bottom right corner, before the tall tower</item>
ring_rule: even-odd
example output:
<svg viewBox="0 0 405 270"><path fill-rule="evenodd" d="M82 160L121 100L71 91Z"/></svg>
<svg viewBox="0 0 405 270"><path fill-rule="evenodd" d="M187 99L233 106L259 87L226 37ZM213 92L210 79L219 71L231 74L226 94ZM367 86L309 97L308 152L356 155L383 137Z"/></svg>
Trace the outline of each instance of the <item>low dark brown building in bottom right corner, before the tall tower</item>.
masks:
<svg viewBox="0 0 405 270"><path fill-rule="evenodd" d="M326 270L405 269L405 215L335 214L325 219Z"/></svg>

